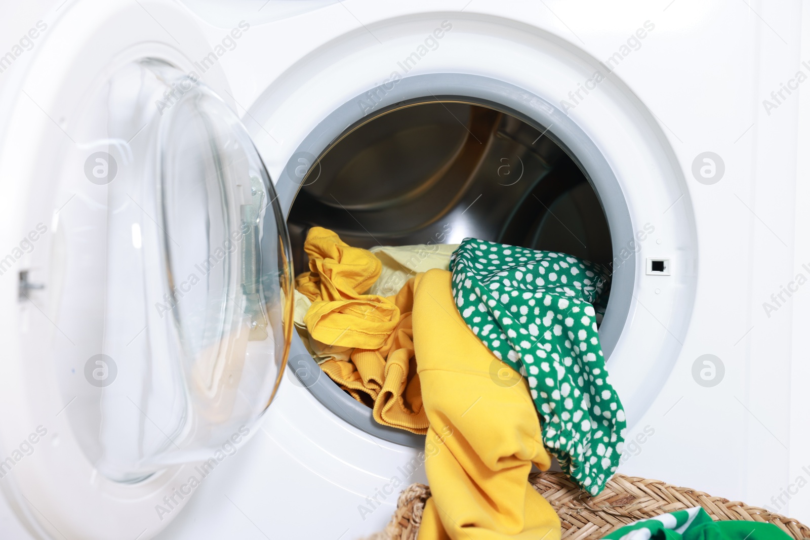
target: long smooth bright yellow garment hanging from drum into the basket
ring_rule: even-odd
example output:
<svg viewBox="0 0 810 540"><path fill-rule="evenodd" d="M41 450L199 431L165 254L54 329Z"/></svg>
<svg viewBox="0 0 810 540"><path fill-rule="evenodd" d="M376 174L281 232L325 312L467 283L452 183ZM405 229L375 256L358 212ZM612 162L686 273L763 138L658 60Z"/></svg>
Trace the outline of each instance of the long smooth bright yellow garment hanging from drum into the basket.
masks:
<svg viewBox="0 0 810 540"><path fill-rule="evenodd" d="M419 540L559 540L560 520L528 483L548 470L539 419L525 381L503 384L498 360L464 323L451 274L417 283L413 334L428 427L425 472L433 496ZM496 381L501 381L498 384Z"/></svg>

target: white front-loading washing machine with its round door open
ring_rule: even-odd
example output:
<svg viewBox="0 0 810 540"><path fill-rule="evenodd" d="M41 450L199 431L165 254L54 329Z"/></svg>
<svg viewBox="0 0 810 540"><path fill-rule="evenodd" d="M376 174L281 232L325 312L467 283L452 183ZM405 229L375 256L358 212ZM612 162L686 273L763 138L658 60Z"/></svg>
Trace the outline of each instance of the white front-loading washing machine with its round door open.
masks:
<svg viewBox="0 0 810 540"><path fill-rule="evenodd" d="M4 6L2 537L381 530L424 436L292 331L314 225L610 265L619 471L810 521L808 7Z"/></svg>

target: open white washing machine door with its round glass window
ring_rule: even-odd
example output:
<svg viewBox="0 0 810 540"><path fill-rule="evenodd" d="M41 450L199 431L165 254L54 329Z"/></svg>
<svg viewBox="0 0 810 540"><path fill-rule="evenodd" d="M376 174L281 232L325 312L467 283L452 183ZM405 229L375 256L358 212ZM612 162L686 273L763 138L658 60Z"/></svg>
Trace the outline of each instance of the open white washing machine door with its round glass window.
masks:
<svg viewBox="0 0 810 540"><path fill-rule="evenodd" d="M147 540L260 432L287 229L181 4L67 2L39 26L0 82L0 515Z"/></svg>

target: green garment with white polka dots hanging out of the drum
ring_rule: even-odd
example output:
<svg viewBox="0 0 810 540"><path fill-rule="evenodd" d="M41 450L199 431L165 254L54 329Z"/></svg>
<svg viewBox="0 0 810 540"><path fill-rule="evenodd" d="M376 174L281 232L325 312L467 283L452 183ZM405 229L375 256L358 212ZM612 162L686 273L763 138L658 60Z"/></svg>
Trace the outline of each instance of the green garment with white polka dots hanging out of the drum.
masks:
<svg viewBox="0 0 810 540"><path fill-rule="evenodd" d="M467 238L450 270L458 312L492 354L527 378L544 443L562 470L597 495L616 472L626 427L594 308L608 269Z"/></svg>

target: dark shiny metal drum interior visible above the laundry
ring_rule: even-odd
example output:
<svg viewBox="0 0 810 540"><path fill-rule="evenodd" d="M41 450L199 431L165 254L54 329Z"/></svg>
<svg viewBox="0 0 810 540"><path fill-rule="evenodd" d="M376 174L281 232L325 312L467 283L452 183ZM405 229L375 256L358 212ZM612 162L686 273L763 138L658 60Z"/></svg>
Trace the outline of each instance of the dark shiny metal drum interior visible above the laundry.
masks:
<svg viewBox="0 0 810 540"><path fill-rule="evenodd" d="M309 227L347 244L472 236L609 265L586 176L541 125L466 100L398 104L346 130L309 167L288 216L296 272Z"/></svg>

